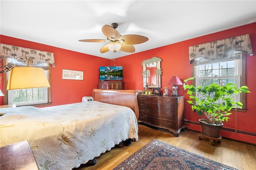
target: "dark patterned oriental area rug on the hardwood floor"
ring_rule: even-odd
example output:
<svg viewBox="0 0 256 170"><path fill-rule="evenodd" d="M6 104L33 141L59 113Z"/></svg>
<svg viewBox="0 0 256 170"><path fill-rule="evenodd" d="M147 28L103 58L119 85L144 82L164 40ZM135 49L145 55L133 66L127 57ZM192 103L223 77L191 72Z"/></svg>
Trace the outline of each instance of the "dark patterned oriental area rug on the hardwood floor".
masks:
<svg viewBox="0 0 256 170"><path fill-rule="evenodd" d="M153 139L114 170L236 170Z"/></svg>

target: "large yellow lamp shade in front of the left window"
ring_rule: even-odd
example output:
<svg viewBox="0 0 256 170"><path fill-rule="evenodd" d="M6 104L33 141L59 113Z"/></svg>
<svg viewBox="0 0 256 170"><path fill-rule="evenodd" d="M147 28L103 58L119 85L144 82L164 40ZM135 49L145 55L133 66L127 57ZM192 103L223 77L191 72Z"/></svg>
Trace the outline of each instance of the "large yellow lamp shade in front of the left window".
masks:
<svg viewBox="0 0 256 170"><path fill-rule="evenodd" d="M10 73L6 90L50 87L44 69L40 67L14 67Z"/></svg>

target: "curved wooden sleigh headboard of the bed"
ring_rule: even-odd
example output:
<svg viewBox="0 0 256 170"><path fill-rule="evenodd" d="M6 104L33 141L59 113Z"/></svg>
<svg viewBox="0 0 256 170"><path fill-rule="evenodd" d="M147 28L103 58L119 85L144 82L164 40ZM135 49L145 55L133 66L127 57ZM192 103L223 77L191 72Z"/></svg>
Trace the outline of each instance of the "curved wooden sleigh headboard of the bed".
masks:
<svg viewBox="0 0 256 170"><path fill-rule="evenodd" d="M92 95L94 101L130 107L138 120L139 109L137 94L138 90L93 89Z"/></svg>

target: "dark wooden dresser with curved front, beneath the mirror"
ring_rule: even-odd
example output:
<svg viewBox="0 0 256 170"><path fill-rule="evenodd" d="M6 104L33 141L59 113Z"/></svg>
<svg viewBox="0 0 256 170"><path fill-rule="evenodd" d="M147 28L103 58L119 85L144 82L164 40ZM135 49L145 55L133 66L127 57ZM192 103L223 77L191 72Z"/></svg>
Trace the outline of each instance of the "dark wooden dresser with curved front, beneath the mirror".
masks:
<svg viewBox="0 0 256 170"><path fill-rule="evenodd" d="M168 129L176 137L185 128L184 96L138 95L138 107L138 122Z"/></svg>

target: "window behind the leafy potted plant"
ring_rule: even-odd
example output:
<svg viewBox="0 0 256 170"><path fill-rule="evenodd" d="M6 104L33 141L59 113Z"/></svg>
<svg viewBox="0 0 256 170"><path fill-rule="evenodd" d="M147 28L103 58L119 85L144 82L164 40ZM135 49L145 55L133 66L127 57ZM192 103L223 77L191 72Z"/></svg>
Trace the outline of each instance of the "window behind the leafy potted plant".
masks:
<svg viewBox="0 0 256 170"><path fill-rule="evenodd" d="M217 62L216 60L196 58L193 63L194 75L192 75L196 77L194 84L195 86L204 86L212 83L219 85L235 83L238 87L246 85L245 60L246 56L241 52L234 52L232 57L220 59ZM244 93L233 97L236 97L236 101L242 102L243 107L246 107Z"/></svg>

